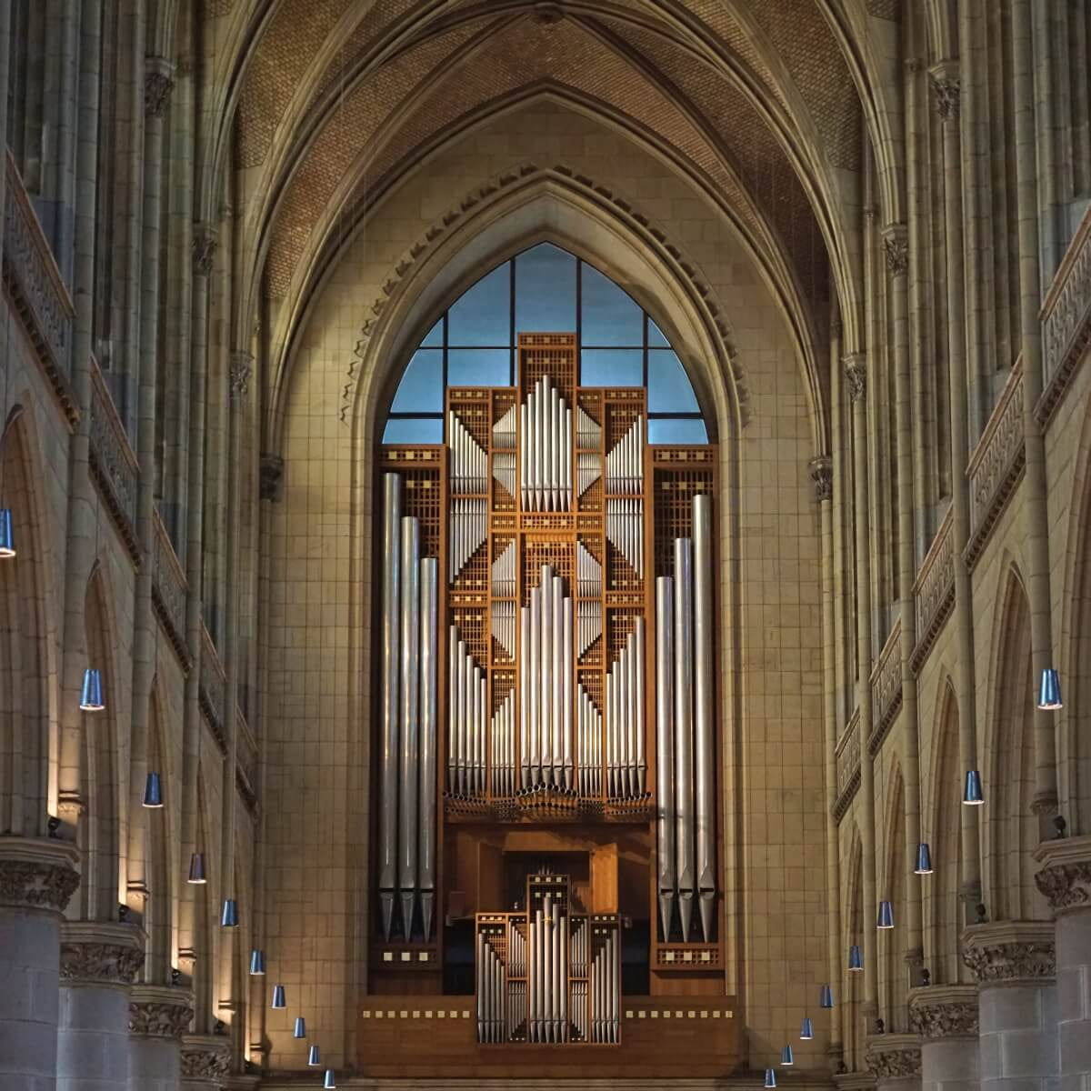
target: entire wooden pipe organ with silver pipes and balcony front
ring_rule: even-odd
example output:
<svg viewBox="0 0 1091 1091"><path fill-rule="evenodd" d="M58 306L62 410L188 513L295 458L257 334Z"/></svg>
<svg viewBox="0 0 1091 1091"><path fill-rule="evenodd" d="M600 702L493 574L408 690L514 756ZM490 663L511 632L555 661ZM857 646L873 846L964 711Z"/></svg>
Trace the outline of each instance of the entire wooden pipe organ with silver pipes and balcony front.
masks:
<svg viewBox="0 0 1091 1091"><path fill-rule="evenodd" d="M517 353L381 451L360 1066L726 1075L716 448L650 446L572 334Z"/></svg>

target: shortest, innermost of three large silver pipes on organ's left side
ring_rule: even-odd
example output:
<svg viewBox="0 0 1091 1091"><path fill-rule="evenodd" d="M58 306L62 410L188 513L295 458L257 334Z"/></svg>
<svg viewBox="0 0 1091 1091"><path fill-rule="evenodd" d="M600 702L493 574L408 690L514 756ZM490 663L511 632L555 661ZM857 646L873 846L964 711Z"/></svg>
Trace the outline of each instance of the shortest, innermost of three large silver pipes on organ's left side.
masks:
<svg viewBox="0 0 1091 1091"><path fill-rule="evenodd" d="M440 562L420 562L420 798L419 844L420 915L424 942L432 938L435 912L435 775L439 727Z"/></svg>

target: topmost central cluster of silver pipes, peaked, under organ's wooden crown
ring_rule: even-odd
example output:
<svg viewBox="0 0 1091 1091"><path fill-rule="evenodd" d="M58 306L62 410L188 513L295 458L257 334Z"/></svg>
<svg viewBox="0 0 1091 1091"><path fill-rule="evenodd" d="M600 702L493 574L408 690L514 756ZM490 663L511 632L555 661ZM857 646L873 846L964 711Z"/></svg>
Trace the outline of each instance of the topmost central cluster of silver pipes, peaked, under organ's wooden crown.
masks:
<svg viewBox="0 0 1091 1091"><path fill-rule="evenodd" d="M549 375L519 407L519 484L529 512L572 507L572 409Z"/></svg>

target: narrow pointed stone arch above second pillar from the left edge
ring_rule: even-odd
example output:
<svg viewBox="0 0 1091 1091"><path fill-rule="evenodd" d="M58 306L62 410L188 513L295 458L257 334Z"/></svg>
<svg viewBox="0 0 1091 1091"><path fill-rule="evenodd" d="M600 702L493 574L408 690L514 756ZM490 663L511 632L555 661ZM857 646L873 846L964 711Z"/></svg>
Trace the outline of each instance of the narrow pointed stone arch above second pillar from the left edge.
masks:
<svg viewBox="0 0 1091 1091"><path fill-rule="evenodd" d="M82 912L87 920L112 920L122 899L121 826L125 786L119 768L120 685L117 626L107 574L96 561L84 600L87 666L101 672L100 712L81 712L86 811L80 823L83 847Z"/></svg>

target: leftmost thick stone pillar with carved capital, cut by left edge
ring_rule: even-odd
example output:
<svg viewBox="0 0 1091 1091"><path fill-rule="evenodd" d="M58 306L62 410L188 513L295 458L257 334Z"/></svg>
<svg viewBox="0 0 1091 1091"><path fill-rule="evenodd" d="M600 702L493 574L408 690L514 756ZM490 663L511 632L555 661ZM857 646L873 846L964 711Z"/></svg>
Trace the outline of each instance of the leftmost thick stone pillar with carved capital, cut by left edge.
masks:
<svg viewBox="0 0 1091 1091"><path fill-rule="evenodd" d="M68 841L0 837L0 1091L55 1091L61 913L80 885Z"/></svg>

